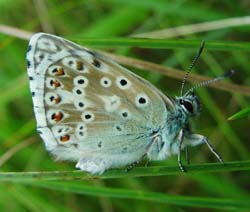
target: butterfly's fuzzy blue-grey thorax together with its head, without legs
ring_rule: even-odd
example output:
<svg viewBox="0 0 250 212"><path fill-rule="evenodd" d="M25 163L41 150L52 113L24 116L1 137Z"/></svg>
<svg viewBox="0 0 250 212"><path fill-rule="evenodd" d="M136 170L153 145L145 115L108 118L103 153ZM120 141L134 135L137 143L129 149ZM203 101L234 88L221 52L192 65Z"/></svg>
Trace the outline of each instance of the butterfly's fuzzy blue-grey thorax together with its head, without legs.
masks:
<svg viewBox="0 0 250 212"><path fill-rule="evenodd" d="M177 154L181 136L185 137L185 134L190 133L189 118L197 116L200 112L200 102L194 93L176 98L168 97L168 100L173 104L172 107L168 107L161 137L156 140L157 145L154 151L150 152L150 159L162 160Z"/></svg>

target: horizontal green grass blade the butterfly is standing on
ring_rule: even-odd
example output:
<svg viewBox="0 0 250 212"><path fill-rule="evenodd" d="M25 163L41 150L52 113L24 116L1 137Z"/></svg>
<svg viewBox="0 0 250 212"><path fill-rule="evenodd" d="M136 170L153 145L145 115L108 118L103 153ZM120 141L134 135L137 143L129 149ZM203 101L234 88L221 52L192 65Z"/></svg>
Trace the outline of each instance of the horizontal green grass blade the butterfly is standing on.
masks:
<svg viewBox="0 0 250 212"><path fill-rule="evenodd" d="M162 165L159 165L163 163ZM155 162L153 163L155 164ZM0 181L23 182L31 180L69 180L69 179L115 179L127 177L150 177L165 175L192 175L193 173L233 172L250 170L250 161L228 162L225 164L208 163L186 166L187 173L182 173L178 166L166 166L164 162L150 167L135 167L129 172L124 169L113 169L103 175L90 175L82 171L51 171L51 172L2 172Z"/></svg>

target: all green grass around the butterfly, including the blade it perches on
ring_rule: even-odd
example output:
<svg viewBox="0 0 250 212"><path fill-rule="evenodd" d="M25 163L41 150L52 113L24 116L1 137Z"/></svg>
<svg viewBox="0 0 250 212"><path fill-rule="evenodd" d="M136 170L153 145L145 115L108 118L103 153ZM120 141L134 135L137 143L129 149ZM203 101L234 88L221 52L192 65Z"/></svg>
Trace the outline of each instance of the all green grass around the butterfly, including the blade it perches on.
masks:
<svg viewBox="0 0 250 212"><path fill-rule="evenodd" d="M228 27L199 33L192 33L197 26L191 25L189 33L171 39L130 37L195 23L214 23L232 18L230 14L247 16L248 3L243 0L0 1L1 210L198 211L200 207L250 210L249 25L239 21L239 25L234 22ZM195 132L209 138L226 163L214 163L216 159L205 145L189 149L192 165L187 166L187 174L179 171L176 156L149 163L148 167L141 164L128 173L114 169L102 176L76 171L72 163L54 162L35 130L25 61L28 41L20 39L21 33L8 35L10 30L3 30L3 25L54 33L91 48L101 47L181 70L187 70L201 40L205 40L204 53L191 77L192 74L215 77L233 69L236 74L225 81L240 87L197 90L203 111L192 121L192 126ZM173 74L171 78L159 75L147 63L143 66L145 71L138 70L142 67L139 63L127 65L137 67L132 71L165 94L179 95L180 75ZM241 108L246 109L231 119L243 117L242 114L244 119L226 120Z"/></svg>

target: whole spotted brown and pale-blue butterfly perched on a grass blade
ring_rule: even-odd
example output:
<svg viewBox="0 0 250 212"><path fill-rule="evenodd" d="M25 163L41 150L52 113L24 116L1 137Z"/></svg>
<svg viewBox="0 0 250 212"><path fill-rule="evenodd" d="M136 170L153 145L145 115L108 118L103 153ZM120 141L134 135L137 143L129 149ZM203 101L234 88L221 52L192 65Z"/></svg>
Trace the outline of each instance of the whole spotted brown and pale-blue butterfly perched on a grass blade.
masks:
<svg viewBox="0 0 250 212"><path fill-rule="evenodd" d="M183 94L185 82L179 97L166 96L106 56L46 33L31 37L26 58L37 130L55 159L102 174L177 154L185 171L181 151L206 143L223 162L190 130L201 105L194 88Z"/></svg>

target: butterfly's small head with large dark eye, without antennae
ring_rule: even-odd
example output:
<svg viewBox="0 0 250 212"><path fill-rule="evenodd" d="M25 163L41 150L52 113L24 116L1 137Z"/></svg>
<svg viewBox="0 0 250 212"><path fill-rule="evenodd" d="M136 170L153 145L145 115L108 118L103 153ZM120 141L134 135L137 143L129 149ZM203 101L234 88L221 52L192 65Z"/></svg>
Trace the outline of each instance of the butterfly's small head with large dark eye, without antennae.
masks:
<svg viewBox="0 0 250 212"><path fill-rule="evenodd" d="M177 101L188 116L197 116L200 114L201 103L193 91L186 93L184 96L177 97Z"/></svg>

